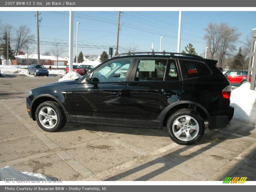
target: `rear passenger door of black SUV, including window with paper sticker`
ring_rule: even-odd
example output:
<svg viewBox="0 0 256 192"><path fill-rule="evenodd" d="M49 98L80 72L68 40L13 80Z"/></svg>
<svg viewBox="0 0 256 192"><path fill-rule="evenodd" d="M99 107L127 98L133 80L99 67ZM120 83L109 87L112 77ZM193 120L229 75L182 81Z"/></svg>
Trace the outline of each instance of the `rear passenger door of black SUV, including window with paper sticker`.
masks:
<svg viewBox="0 0 256 192"><path fill-rule="evenodd" d="M172 102L179 99L182 81L176 60L138 58L124 96L127 119L155 120Z"/></svg>

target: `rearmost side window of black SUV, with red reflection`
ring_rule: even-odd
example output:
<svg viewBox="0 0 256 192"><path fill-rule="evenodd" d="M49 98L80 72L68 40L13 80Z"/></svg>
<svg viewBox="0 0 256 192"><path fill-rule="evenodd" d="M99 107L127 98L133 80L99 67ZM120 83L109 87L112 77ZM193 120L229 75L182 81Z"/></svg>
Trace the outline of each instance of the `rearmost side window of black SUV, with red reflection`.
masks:
<svg viewBox="0 0 256 192"><path fill-rule="evenodd" d="M187 70L188 78L202 77L211 74L204 63L188 60L183 60L183 63Z"/></svg>

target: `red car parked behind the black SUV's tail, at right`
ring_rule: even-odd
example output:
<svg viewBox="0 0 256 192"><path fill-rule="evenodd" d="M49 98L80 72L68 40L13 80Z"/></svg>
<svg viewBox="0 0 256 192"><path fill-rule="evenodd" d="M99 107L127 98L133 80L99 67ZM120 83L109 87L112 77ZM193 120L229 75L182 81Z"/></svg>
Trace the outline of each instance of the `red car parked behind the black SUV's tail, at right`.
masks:
<svg viewBox="0 0 256 192"><path fill-rule="evenodd" d="M244 84L247 81L247 74L247 71L228 71L225 76L230 84ZM249 82L251 82L251 78L250 75Z"/></svg>

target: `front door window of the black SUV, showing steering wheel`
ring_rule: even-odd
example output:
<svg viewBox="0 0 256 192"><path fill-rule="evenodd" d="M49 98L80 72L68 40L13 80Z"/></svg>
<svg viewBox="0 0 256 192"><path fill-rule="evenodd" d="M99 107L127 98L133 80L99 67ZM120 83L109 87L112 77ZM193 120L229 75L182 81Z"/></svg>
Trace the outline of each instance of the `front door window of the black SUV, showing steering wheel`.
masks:
<svg viewBox="0 0 256 192"><path fill-rule="evenodd" d="M95 81L93 78L96 78L96 81L99 80L99 82L124 81L131 63L132 59L106 63L103 67L93 72L91 79Z"/></svg>

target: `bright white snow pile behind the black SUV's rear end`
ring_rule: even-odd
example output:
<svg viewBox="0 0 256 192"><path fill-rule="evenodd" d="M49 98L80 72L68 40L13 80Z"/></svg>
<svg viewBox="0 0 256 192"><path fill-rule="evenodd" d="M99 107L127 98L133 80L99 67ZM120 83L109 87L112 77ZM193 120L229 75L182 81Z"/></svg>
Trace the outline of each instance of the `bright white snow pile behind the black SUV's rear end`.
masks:
<svg viewBox="0 0 256 192"><path fill-rule="evenodd" d="M230 103L235 107L234 118L256 122L256 91L250 90L250 83L242 84L233 90Z"/></svg>

